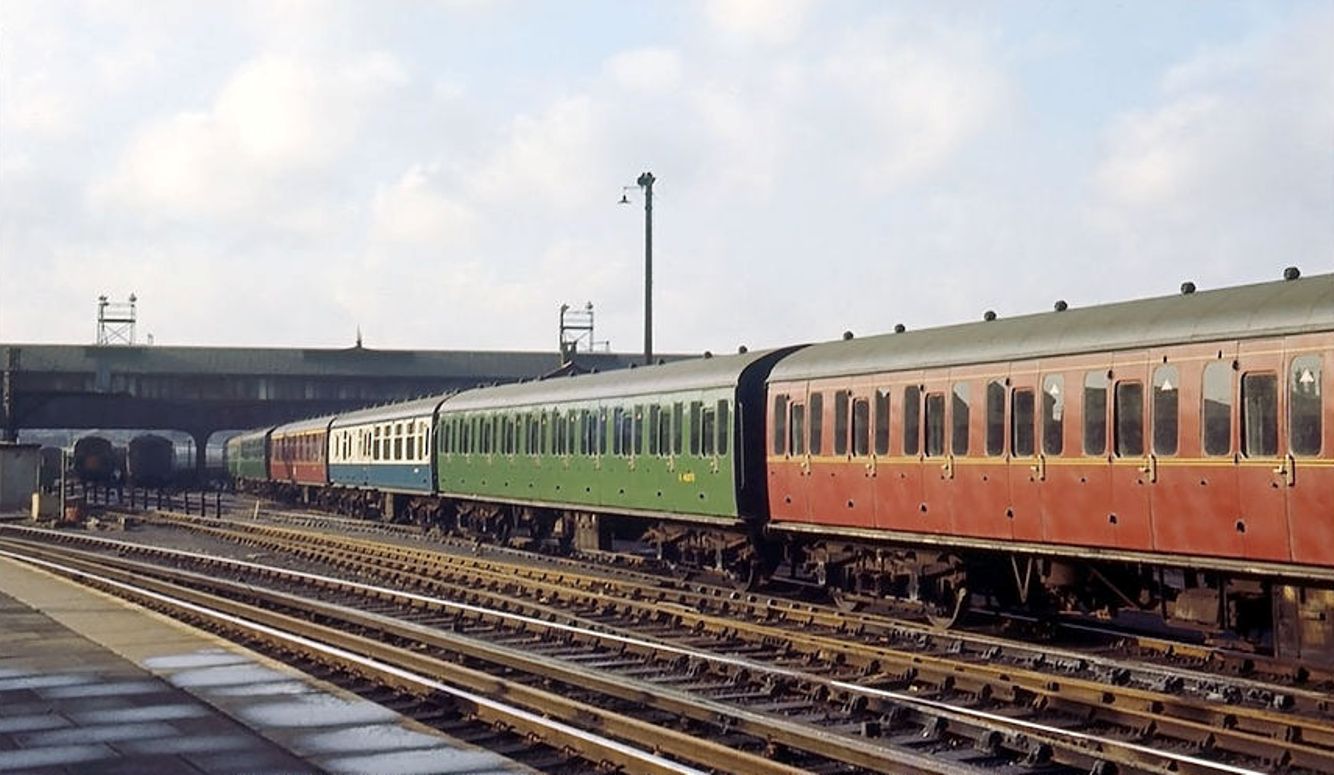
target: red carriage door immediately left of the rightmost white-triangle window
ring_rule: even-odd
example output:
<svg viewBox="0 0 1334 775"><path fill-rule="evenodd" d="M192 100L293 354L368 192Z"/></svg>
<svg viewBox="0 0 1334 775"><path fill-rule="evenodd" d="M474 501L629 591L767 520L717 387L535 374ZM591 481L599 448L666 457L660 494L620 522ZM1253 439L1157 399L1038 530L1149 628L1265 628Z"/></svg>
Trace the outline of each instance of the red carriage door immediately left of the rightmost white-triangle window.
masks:
<svg viewBox="0 0 1334 775"><path fill-rule="evenodd" d="M1241 535L1247 559L1287 560L1287 490L1295 484L1297 471L1286 434L1279 434L1287 403L1283 356L1271 340L1243 341L1238 351L1241 514L1233 530Z"/></svg>

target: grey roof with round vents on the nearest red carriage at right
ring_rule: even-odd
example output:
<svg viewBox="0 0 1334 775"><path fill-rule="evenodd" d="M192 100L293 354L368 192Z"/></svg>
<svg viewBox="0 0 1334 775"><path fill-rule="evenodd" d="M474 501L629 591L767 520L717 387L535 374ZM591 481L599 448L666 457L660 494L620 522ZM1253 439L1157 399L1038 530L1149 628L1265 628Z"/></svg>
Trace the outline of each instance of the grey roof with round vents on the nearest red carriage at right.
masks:
<svg viewBox="0 0 1334 775"><path fill-rule="evenodd" d="M1334 275L884 333L803 348L770 381L1334 331Z"/></svg>

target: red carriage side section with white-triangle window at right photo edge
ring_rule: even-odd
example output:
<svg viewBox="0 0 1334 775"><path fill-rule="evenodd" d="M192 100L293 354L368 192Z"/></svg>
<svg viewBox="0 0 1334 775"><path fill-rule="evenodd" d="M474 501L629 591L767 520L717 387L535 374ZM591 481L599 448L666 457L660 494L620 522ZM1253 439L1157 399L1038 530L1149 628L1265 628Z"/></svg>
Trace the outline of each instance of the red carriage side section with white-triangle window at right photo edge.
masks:
<svg viewBox="0 0 1334 775"><path fill-rule="evenodd" d="M1287 488L1287 524L1293 536L1293 562L1321 563L1334 558L1334 468L1321 466L1331 456L1334 428L1325 422L1325 381L1331 353L1327 344L1294 348L1289 343L1287 365L1287 460L1293 467ZM1319 347L1319 349L1317 349ZM1323 352L1322 352L1323 351Z"/></svg>

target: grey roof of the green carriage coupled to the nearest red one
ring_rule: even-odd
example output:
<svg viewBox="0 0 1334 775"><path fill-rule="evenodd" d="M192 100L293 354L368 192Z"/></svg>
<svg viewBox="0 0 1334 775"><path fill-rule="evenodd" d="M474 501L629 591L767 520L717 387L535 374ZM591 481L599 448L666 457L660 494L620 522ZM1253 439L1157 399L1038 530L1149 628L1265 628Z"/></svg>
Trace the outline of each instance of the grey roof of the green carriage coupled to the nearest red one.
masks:
<svg viewBox="0 0 1334 775"><path fill-rule="evenodd" d="M678 391L732 387L748 365L771 351L696 357L608 373L558 376L547 380L476 388L444 402L443 411L598 400Z"/></svg>

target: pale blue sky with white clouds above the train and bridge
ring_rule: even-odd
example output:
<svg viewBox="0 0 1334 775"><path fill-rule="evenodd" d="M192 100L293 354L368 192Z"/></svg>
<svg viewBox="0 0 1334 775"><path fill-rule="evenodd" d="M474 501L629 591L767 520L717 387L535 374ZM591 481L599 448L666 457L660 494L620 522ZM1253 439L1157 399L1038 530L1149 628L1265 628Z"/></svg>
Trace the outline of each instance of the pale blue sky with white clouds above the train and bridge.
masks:
<svg viewBox="0 0 1334 775"><path fill-rule="evenodd" d="M658 352L1329 272L1331 40L1330 0L0 0L0 341L133 292L157 344L555 349L591 301L635 352L644 171Z"/></svg>

